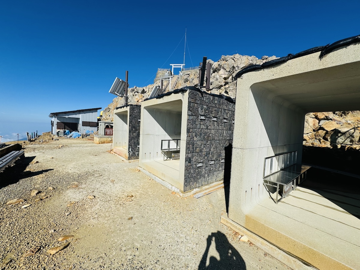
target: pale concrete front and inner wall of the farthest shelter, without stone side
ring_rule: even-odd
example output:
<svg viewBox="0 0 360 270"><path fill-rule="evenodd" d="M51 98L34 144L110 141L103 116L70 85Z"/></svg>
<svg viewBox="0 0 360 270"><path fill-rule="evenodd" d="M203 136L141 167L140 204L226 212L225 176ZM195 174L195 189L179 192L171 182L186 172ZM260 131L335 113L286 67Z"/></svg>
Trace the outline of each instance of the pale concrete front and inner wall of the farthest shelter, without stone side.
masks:
<svg viewBox="0 0 360 270"><path fill-rule="evenodd" d="M113 145L127 149L129 142L129 107L114 111Z"/></svg>

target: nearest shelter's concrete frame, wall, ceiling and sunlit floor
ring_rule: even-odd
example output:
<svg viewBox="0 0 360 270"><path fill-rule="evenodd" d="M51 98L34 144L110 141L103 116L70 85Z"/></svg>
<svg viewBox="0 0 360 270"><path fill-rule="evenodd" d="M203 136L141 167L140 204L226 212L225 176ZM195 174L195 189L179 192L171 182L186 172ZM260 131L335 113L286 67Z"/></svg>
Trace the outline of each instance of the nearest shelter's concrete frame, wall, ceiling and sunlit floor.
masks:
<svg viewBox="0 0 360 270"><path fill-rule="evenodd" d="M359 44L238 78L229 218L320 269L359 269L357 217L301 188L275 204L263 185L266 157L297 151L301 163L306 113L359 110L359 100Z"/></svg>

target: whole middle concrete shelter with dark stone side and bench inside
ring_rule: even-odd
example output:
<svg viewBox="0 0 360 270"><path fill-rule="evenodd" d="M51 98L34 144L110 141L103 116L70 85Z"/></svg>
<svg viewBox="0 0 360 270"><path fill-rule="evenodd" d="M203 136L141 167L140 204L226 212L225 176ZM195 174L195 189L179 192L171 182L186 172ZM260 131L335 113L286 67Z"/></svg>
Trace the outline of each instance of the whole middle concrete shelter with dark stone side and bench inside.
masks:
<svg viewBox="0 0 360 270"><path fill-rule="evenodd" d="M183 196L219 184L230 172L234 109L195 87L143 101L139 167Z"/></svg>

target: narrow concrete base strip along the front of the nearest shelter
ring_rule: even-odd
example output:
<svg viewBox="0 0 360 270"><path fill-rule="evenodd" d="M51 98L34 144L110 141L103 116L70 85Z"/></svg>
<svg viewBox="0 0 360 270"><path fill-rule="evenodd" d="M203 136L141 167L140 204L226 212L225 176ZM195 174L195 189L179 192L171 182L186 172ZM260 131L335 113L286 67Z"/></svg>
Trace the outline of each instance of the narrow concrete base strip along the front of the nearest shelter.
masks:
<svg viewBox="0 0 360 270"><path fill-rule="evenodd" d="M249 238L249 241L255 246L261 248L263 251L269 253L271 256L283 262L285 265L289 266L294 270L315 270L316 268L303 264L297 258L294 258L273 244L267 242L265 239L259 237L258 235L252 233L251 231L245 229L243 226L237 224L226 216L221 216L220 222L234 231L237 231L240 235L246 235Z"/></svg>

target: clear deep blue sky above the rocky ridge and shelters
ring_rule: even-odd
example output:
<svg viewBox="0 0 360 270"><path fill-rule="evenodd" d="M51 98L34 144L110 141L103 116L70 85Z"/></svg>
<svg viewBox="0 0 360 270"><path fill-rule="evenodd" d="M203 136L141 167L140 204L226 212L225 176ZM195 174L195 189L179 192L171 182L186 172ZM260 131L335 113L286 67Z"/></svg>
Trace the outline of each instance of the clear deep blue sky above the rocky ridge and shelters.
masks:
<svg viewBox="0 0 360 270"><path fill-rule="evenodd" d="M186 67L282 57L360 34L359 3L2 1L0 135L50 131L50 112L105 108L126 70L131 87L152 83L157 68L183 63L185 27Z"/></svg>

